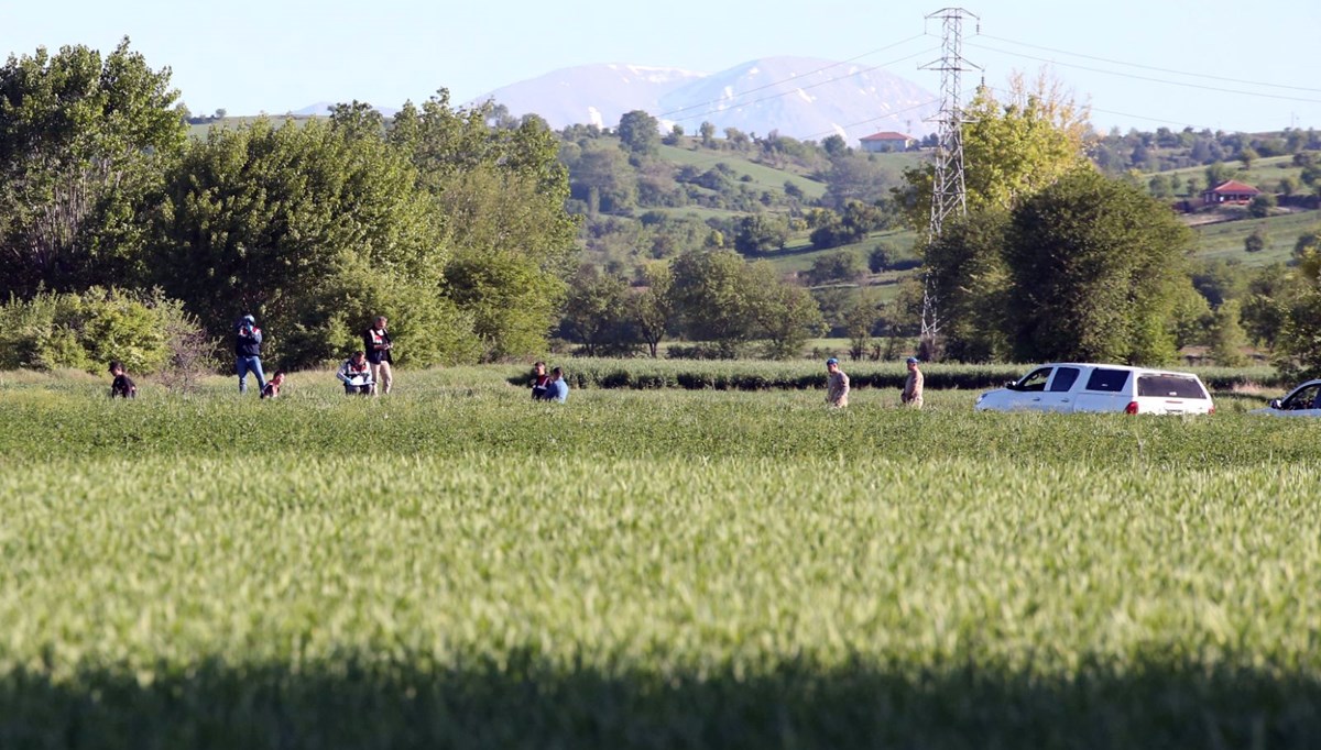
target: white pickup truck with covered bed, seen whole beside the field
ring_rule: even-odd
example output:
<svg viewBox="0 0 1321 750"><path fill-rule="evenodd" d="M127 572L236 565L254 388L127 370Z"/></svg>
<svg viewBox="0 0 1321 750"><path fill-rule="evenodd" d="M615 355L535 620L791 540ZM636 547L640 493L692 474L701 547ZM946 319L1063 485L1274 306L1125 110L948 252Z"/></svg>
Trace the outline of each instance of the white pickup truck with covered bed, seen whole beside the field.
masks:
<svg viewBox="0 0 1321 750"><path fill-rule="evenodd" d="M1004 388L978 396L976 411L1207 415L1211 395L1192 372L1125 364L1042 364Z"/></svg>

